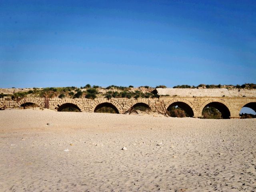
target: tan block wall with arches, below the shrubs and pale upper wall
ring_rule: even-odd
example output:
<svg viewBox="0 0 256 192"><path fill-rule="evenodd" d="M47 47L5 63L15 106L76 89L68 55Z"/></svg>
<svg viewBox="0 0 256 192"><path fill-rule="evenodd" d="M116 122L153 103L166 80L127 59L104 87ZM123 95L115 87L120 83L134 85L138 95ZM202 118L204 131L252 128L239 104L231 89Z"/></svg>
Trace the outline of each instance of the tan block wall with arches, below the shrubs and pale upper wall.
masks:
<svg viewBox="0 0 256 192"><path fill-rule="evenodd" d="M180 90L180 89L179 89ZM185 90L185 89L184 89ZM192 90L192 89L190 89ZM197 89L195 89L197 90ZM186 91L186 90L185 90ZM249 94L249 93L248 93ZM24 103L34 103L40 107L45 107L44 98L22 98L20 100L11 100L10 98L0 98L0 107L6 106L7 108L20 107ZM95 100L86 98L49 98L49 109L58 110L64 104L74 104L81 112L94 112L98 105L108 104L114 106L120 114L126 113L132 106L138 103L143 103L150 107L153 112L164 113L171 104L179 102L187 108L192 110L194 117L202 116L202 110L205 106L212 104L223 113L227 113L231 118L239 118L240 110L246 104L250 104L251 108L256 110L256 97L185 97L185 96L168 96L160 98L97 98ZM214 106L215 107L215 106Z"/></svg>

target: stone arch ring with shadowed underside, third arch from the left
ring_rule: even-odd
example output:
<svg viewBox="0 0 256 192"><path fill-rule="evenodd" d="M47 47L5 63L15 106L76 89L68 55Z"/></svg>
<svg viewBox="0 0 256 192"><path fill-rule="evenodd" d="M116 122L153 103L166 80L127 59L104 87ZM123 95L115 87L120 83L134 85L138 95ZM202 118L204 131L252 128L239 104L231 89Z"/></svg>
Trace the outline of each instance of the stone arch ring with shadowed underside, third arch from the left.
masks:
<svg viewBox="0 0 256 192"><path fill-rule="evenodd" d="M95 112L95 110L97 110L99 107L102 107L102 106L111 107L116 111L116 113L122 113L122 107L118 102L116 102L116 100L113 100L113 99L107 100L106 98L102 98L94 101L94 103L91 105L89 109L89 112Z"/></svg>

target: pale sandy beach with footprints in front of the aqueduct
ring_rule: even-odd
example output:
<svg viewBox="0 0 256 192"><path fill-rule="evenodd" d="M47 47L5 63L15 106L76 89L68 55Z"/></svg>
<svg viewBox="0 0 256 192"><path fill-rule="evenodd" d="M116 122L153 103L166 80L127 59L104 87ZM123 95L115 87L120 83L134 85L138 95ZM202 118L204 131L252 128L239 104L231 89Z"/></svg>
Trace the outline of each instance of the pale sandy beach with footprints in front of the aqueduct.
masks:
<svg viewBox="0 0 256 192"><path fill-rule="evenodd" d="M256 191L256 119L13 109L0 133L1 192Z"/></svg>

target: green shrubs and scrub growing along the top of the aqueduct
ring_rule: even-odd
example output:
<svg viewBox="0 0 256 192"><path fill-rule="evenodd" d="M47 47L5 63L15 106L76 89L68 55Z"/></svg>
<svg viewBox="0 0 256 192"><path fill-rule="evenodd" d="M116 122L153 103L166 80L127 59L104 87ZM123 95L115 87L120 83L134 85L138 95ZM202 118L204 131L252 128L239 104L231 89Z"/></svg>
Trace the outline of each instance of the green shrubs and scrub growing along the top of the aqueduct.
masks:
<svg viewBox="0 0 256 192"><path fill-rule="evenodd" d="M146 89L144 89L146 88ZM164 85L156 86L156 88L166 88ZM207 84L199 84L198 86L190 86L190 85L178 85L173 88L239 88L239 89L256 89L256 84L246 83L242 85L207 85ZM14 90L16 91L16 90ZM95 99L97 97L105 97L105 98L159 98L160 96L168 96L168 95L158 95L156 89L151 88L149 86L141 86L139 88L133 88L133 86L123 87L123 86L115 86L111 85L106 88L101 88L100 86L90 86L87 84L82 88L77 88L75 86L71 87L47 87L47 88L33 88L28 91L18 90L13 94L0 94L0 98L4 98L4 96L11 96L13 99L32 96L32 97L47 97L47 98L90 98Z"/></svg>

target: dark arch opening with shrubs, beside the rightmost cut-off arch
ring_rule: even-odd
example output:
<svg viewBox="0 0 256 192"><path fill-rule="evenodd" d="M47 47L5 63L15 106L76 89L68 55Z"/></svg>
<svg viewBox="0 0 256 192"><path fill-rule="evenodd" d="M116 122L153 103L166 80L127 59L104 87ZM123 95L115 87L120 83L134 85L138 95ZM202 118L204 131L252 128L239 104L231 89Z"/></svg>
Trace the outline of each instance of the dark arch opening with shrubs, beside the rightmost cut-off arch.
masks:
<svg viewBox="0 0 256 192"><path fill-rule="evenodd" d="M202 110L204 119L229 119L230 111L226 105L220 102L211 102Z"/></svg>

